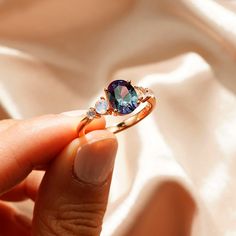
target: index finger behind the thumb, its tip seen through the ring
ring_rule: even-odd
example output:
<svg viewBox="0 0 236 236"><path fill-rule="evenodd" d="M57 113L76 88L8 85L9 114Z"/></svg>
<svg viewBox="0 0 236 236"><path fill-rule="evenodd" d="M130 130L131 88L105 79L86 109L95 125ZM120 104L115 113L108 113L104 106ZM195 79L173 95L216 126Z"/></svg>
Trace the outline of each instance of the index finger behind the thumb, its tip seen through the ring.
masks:
<svg viewBox="0 0 236 236"><path fill-rule="evenodd" d="M46 115L17 121L0 134L0 194L22 181L35 167L49 163L77 137L80 116ZM103 129L104 119L90 129Z"/></svg>

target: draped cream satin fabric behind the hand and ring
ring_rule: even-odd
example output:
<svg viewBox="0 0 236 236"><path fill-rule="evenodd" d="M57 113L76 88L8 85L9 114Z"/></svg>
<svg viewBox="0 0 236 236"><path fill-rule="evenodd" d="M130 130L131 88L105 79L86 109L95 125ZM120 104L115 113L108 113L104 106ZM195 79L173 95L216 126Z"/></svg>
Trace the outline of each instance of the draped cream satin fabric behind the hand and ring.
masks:
<svg viewBox="0 0 236 236"><path fill-rule="evenodd" d="M1 119L87 109L117 78L157 96L117 135L103 236L236 235L235 12L233 0L0 2Z"/></svg>

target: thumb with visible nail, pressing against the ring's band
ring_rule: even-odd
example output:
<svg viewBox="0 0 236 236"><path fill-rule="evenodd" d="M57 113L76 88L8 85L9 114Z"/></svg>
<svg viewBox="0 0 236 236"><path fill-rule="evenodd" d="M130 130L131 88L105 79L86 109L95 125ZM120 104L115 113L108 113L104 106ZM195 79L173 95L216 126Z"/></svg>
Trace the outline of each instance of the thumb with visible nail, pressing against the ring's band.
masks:
<svg viewBox="0 0 236 236"><path fill-rule="evenodd" d="M98 130L55 158L35 203L33 235L100 235L116 150L114 134Z"/></svg>

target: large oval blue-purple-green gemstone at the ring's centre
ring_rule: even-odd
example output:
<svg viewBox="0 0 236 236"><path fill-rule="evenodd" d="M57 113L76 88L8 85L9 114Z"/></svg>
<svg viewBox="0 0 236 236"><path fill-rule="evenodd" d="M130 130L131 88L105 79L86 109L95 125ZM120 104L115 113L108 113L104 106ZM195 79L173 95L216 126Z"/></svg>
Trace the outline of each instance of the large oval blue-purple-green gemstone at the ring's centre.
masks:
<svg viewBox="0 0 236 236"><path fill-rule="evenodd" d="M115 80L107 89L110 106L120 114L129 114L138 106L138 96L134 87L125 80Z"/></svg>

